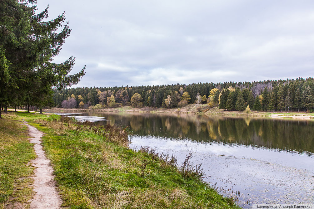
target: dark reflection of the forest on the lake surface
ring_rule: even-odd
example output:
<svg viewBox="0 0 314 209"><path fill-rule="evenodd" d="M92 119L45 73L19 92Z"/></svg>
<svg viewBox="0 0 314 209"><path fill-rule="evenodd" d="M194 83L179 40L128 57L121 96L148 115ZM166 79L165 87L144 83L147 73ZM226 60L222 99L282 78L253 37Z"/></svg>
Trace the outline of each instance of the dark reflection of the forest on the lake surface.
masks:
<svg viewBox="0 0 314 209"><path fill-rule="evenodd" d="M299 154L314 153L314 123L271 118L226 118L188 114L86 112L105 117L99 123L130 126L133 133L167 138L189 138L198 142L223 142Z"/></svg>

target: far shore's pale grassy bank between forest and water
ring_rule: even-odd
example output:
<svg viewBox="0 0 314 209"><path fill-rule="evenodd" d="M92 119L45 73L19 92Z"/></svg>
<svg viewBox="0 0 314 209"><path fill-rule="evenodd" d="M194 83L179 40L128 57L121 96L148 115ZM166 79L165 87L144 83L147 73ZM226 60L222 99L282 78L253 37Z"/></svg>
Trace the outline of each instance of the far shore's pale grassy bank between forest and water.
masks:
<svg viewBox="0 0 314 209"><path fill-rule="evenodd" d="M198 110L197 108L200 107ZM240 111L224 111L218 107L208 108L206 104L189 104L182 108L133 108L131 106L126 107L116 107L116 108L105 108L100 110L90 110L90 109L65 109L65 108L50 108L44 109L45 112L148 112L148 113L186 113L186 114L206 114L206 115L221 115L221 116L236 116L236 117L271 117L271 118L292 118L292 119L302 119L310 120L314 119L314 113L304 113L304 112L273 112L273 111L251 111L250 114Z"/></svg>

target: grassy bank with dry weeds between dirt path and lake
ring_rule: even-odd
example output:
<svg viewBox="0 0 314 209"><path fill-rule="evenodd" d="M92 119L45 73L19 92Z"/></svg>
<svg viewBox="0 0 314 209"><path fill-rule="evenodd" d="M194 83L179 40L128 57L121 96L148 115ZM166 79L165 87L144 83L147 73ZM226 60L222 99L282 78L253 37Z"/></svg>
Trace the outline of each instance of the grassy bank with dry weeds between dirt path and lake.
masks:
<svg viewBox="0 0 314 209"><path fill-rule="evenodd" d="M46 133L42 145L55 170L62 206L239 208L233 199L219 195L202 182L196 170L178 169L175 158L160 157L150 149L129 149L127 134L120 128L97 127L56 116L33 120L29 116L34 114L16 115L6 120L18 123L26 119ZM8 163L8 159L4 161Z"/></svg>

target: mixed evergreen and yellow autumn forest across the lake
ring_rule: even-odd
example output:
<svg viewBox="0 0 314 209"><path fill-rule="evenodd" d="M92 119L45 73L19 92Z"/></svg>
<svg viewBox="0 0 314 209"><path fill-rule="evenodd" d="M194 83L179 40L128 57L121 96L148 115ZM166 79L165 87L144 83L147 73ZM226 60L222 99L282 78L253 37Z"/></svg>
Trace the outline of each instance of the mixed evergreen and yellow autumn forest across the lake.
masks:
<svg viewBox="0 0 314 209"><path fill-rule="evenodd" d="M208 104L229 111L246 108L263 111L311 112L314 80L268 80L253 82L192 83L160 86L77 87L54 90L54 107L102 109L132 105L185 107Z"/></svg>

